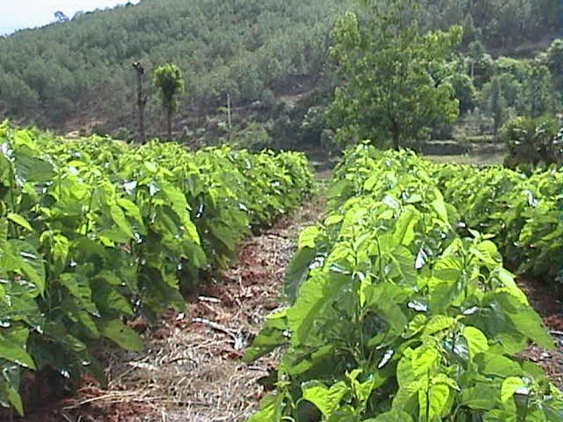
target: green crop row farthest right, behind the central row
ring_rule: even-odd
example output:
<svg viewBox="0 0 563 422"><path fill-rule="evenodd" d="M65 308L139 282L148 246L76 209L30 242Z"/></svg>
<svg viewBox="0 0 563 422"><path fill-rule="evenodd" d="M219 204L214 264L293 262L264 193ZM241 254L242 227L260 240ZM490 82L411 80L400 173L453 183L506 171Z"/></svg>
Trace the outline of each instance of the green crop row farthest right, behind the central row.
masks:
<svg viewBox="0 0 563 422"><path fill-rule="evenodd" d="M507 264L534 279L563 281L561 169L526 176L502 167L449 165L435 177L464 224L494 236Z"/></svg>

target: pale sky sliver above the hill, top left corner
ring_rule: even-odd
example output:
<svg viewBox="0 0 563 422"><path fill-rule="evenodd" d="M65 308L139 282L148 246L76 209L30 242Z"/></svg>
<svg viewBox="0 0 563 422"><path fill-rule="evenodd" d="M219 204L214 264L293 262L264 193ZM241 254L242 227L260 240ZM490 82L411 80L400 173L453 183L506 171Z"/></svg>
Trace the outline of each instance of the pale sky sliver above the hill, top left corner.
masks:
<svg viewBox="0 0 563 422"><path fill-rule="evenodd" d="M131 0L131 3L138 2ZM0 35L51 23L57 11L72 18L77 11L87 12L125 3L127 0L0 0Z"/></svg>

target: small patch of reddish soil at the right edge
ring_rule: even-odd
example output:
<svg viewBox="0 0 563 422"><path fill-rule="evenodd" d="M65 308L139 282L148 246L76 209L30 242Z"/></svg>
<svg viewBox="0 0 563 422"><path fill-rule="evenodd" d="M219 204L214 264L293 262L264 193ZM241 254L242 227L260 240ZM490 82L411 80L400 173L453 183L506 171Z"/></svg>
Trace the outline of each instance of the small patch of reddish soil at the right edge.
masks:
<svg viewBox="0 0 563 422"><path fill-rule="evenodd" d="M548 378L563 388L563 303L558 298L561 292L555 291L553 286L538 281L519 280L519 286L530 300L530 305L540 314L543 323L550 330L554 340L554 350L543 350L536 345L530 345L524 357L539 364Z"/></svg>

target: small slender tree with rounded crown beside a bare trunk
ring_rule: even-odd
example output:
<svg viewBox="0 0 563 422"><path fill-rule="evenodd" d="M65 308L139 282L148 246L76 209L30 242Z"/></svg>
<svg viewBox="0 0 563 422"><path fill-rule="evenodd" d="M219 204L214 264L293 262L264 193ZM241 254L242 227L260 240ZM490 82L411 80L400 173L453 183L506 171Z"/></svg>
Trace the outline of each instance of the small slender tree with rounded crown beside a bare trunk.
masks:
<svg viewBox="0 0 563 422"><path fill-rule="evenodd" d="M172 139L172 115L178 109L178 96L184 92L184 78L176 65L160 66L154 72L154 84L166 113L168 139Z"/></svg>

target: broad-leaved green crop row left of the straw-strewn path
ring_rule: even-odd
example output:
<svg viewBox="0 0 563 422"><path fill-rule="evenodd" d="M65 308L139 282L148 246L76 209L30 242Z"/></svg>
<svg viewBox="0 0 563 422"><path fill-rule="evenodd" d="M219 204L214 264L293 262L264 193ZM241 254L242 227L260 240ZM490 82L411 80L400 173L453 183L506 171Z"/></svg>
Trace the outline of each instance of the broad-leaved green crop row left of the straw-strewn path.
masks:
<svg viewBox="0 0 563 422"><path fill-rule="evenodd" d="M0 404L23 412L23 369L103 379L101 339L182 309L253 226L312 188L303 155L176 143L132 148L0 126Z"/></svg>

